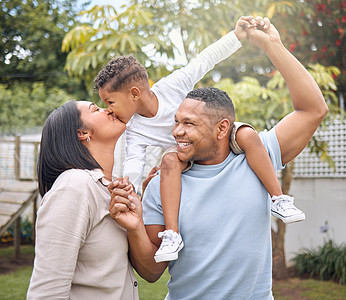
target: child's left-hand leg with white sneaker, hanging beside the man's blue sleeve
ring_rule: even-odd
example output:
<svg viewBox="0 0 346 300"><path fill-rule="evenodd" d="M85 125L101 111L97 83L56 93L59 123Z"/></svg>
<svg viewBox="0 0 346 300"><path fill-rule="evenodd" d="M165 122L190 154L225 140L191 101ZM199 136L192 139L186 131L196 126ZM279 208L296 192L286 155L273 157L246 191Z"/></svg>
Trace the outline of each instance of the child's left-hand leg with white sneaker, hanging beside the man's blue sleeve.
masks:
<svg viewBox="0 0 346 300"><path fill-rule="evenodd" d="M177 153L164 155L161 161L160 193L165 231L159 233L162 238L160 248L156 251L155 261L171 261L178 258L178 252L184 247L178 228L181 172L186 163L179 160Z"/></svg>

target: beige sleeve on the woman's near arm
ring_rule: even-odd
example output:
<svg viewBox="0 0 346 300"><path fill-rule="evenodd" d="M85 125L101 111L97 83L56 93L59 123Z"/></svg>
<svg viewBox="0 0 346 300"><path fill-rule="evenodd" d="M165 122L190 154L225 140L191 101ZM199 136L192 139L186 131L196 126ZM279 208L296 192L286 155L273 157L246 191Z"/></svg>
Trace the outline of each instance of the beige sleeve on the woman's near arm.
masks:
<svg viewBox="0 0 346 300"><path fill-rule="evenodd" d="M38 210L35 263L27 299L69 299L79 249L90 228L88 201L66 186Z"/></svg>

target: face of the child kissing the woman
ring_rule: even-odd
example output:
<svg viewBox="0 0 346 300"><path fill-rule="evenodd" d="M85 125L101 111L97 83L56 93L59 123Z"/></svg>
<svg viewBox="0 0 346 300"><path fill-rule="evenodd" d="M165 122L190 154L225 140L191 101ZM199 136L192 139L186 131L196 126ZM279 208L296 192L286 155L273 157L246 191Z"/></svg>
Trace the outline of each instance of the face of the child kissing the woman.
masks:
<svg viewBox="0 0 346 300"><path fill-rule="evenodd" d="M99 89L100 98L107 104L108 110L125 124L136 113L129 91L110 92L107 86Z"/></svg>

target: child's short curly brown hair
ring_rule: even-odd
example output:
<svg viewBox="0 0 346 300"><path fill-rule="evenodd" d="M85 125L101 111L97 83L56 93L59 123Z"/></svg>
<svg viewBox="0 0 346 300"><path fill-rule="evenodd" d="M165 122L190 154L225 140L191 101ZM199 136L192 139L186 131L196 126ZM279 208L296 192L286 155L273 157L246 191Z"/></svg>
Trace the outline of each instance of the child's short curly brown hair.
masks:
<svg viewBox="0 0 346 300"><path fill-rule="evenodd" d="M132 55L118 56L98 73L94 80L94 90L97 91L110 82L112 91L116 92L130 83L139 81L148 82L145 67Z"/></svg>

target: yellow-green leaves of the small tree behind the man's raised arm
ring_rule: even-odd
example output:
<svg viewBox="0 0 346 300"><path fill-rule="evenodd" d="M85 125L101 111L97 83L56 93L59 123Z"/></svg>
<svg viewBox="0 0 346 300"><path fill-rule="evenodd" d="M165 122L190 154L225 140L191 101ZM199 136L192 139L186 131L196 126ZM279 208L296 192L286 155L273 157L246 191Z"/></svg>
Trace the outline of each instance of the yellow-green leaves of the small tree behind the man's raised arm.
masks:
<svg viewBox="0 0 346 300"><path fill-rule="evenodd" d="M338 97L335 93L336 84L334 77L340 74L336 67L324 67L320 64L309 64L307 70L319 85L328 104L329 113L322 123L327 126L335 118L345 120L345 111L338 105ZM253 77L244 77L234 83L231 79L221 79L214 85L226 91L234 102L236 118L242 122L252 124L257 130L269 130L284 116L293 111L292 101L287 85L280 72L272 73L265 86ZM328 144L313 137L308 147L322 161L335 170L335 163L328 155Z"/></svg>

